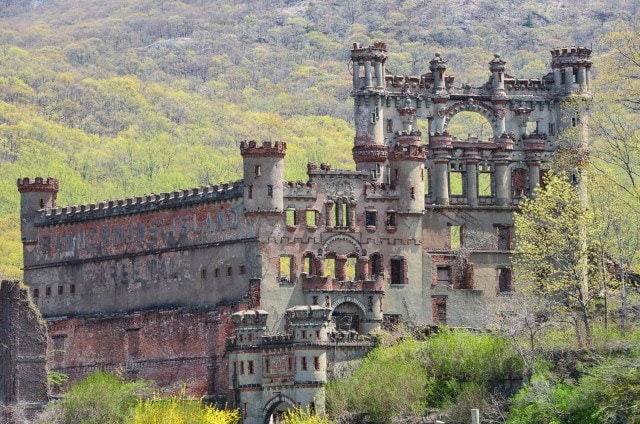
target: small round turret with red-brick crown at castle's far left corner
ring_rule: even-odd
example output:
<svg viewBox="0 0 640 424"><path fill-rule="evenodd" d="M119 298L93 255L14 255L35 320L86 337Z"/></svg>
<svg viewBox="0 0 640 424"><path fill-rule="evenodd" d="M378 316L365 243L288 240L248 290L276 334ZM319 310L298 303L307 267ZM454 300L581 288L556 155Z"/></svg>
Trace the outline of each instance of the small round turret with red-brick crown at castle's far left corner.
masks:
<svg viewBox="0 0 640 424"><path fill-rule="evenodd" d="M41 209L54 208L58 195L58 180L37 177L35 181L29 178L18 179L20 192L20 221L21 235L24 249L25 265L30 264L27 246L37 243L38 231L35 227L36 212Z"/></svg>

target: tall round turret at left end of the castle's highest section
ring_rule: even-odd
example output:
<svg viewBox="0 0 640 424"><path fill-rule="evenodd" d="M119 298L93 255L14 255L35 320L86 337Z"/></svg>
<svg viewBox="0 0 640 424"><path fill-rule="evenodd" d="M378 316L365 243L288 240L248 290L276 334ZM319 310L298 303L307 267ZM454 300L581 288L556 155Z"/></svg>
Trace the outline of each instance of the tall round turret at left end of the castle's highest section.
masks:
<svg viewBox="0 0 640 424"><path fill-rule="evenodd" d="M385 180L383 164L387 160L382 112L386 49L380 42L367 48L354 43L351 49L356 124L353 160L356 170L370 172L377 181Z"/></svg>

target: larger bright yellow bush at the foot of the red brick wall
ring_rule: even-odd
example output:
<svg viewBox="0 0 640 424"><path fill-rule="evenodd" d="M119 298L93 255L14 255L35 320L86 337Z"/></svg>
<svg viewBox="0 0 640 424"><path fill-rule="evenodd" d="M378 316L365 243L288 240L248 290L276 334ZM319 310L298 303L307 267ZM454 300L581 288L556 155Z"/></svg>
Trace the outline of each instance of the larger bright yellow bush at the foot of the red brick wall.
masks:
<svg viewBox="0 0 640 424"><path fill-rule="evenodd" d="M220 410L184 397L142 400L134 411L134 424L236 424L238 410Z"/></svg>

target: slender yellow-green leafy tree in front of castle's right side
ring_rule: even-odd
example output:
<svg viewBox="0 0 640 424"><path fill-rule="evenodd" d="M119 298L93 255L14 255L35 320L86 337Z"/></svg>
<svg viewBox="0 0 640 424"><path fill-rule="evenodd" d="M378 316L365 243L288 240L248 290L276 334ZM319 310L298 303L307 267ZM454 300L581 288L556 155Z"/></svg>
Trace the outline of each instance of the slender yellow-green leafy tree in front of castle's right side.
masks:
<svg viewBox="0 0 640 424"><path fill-rule="evenodd" d="M535 198L514 216L516 283L553 301L547 319L573 326L580 345L591 343L591 309L597 290L589 278L587 212L565 174L550 172Z"/></svg>

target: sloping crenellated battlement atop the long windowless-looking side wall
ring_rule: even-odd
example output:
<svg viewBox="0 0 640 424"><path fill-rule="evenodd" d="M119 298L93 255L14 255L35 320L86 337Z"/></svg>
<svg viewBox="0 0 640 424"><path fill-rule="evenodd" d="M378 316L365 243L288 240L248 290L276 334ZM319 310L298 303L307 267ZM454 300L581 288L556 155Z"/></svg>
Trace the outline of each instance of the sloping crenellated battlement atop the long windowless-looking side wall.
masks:
<svg viewBox="0 0 640 424"><path fill-rule="evenodd" d="M40 212L40 215L36 218L35 225L66 224L242 198L243 190L244 184L240 180L220 185L177 190L170 193L148 194L84 205L55 207Z"/></svg>

